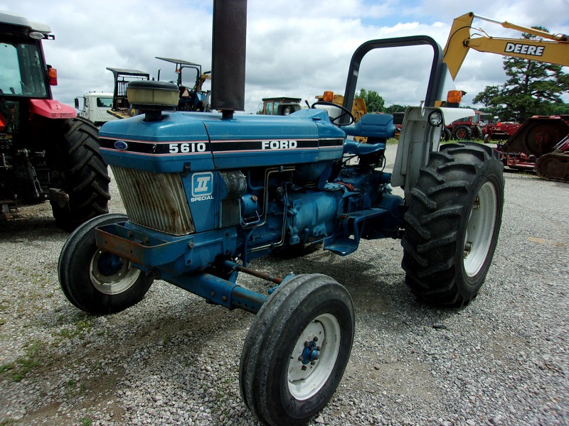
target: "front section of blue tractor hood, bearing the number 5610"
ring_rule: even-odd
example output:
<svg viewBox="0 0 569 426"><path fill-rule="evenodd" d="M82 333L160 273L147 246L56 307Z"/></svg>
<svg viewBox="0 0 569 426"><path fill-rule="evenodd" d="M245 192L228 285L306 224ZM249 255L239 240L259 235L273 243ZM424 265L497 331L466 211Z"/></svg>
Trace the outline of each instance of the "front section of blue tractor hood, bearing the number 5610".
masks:
<svg viewBox="0 0 569 426"><path fill-rule="evenodd" d="M144 121L144 115L109 121L99 131L103 160L156 173L213 170L208 133L200 114L164 113L161 121L149 122Z"/></svg>

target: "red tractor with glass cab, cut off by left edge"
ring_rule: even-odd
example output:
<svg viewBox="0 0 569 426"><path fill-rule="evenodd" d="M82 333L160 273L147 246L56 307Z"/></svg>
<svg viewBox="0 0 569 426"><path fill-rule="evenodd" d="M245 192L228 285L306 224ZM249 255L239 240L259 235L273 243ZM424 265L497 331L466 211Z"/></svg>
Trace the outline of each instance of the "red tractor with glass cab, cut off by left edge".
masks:
<svg viewBox="0 0 569 426"><path fill-rule="evenodd" d="M18 204L50 200L63 229L107 213L107 166L97 128L53 100L57 71L42 40L50 28L0 12L0 203L14 219Z"/></svg>

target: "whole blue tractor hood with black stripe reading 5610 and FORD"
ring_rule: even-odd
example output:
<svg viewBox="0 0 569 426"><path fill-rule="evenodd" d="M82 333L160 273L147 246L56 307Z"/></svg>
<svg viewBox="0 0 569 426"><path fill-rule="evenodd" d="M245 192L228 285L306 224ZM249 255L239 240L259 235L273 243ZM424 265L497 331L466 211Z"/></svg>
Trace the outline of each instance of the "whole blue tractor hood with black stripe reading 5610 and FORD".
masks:
<svg viewBox="0 0 569 426"><path fill-rule="evenodd" d="M346 133L326 111L289 116L163 112L102 126L100 152L109 165L157 173L317 163L341 158Z"/></svg>

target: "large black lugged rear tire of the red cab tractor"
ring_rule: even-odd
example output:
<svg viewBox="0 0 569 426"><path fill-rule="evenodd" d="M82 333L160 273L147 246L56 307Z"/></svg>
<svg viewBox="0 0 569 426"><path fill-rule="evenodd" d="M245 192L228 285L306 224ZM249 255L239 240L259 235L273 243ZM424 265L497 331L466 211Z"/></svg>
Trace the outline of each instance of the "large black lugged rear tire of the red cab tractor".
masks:
<svg viewBox="0 0 569 426"><path fill-rule="evenodd" d="M99 131L90 121L63 121L57 131L58 179L54 182L69 201L50 200L56 224L65 231L109 212L110 177L99 153Z"/></svg>

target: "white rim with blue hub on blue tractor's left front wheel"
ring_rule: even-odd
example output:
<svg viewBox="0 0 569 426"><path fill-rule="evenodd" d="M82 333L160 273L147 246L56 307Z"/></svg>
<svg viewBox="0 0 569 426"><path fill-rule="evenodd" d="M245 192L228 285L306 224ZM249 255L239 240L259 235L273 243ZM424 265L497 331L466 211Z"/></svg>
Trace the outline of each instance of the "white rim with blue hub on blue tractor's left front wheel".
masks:
<svg viewBox="0 0 569 426"><path fill-rule="evenodd" d="M122 293L137 282L141 271L132 263L104 250L97 250L90 264L91 283L105 295Z"/></svg>

